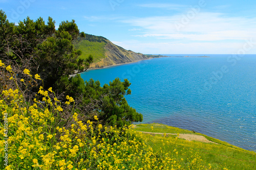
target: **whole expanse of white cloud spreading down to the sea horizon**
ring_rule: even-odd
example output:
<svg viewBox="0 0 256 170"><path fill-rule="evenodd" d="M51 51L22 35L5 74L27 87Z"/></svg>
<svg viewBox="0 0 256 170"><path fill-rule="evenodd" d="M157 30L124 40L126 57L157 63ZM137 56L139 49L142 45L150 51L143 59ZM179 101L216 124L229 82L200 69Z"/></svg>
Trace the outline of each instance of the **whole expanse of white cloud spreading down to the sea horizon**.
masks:
<svg viewBox="0 0 256 170"><path fill-rule="evenodd" d="M120 42L116 39L114 43L144 54L231 54L241 49L246 39L253 38L253 42L256 41L256 17L199 12L183 24L188 12L189 9L170 16L126 19L115 16L84 18L126 23L130 27L128 31L134 31L134 40ZM183 24L180 29L176 28L177 23ZM248 54L256 54L256 46Z"/></svg>

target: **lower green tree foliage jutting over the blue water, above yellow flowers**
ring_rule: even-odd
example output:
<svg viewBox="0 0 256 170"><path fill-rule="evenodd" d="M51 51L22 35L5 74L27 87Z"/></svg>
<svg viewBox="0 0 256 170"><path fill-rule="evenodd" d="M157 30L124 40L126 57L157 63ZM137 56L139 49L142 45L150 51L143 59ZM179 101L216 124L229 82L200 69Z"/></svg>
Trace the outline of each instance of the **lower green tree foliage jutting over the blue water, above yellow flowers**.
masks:
<svg viewBox="0 0 256 170"><path fill-rule="evenodd" d="M91 105L88 108L98 115L101 124L123 127L131 125L132 122L142 122L143 116L127 104L124 96L131 94L129 86L131 83L125 79L115 79L110 84L100 86L99 81L91 79L84 81L80 75L72 78L62 78L59 80L58 89L65 91L66 95L79 96L81 102L79 105ZM93 117L91 117L91 120Z"/></svg>

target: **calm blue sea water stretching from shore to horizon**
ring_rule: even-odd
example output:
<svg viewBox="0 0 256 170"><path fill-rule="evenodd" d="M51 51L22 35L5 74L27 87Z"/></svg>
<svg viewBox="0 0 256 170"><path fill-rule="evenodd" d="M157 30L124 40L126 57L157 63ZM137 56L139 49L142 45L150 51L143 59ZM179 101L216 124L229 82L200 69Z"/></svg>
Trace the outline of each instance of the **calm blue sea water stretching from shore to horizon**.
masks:
<svg viewBox="0 0 256 170"><path fill-rule="evenodd" d="M126 100L143 114L143 123L194 130L256 151L256 55L206 56L144 60L81 77L101 85L129 79Z"/></svg>

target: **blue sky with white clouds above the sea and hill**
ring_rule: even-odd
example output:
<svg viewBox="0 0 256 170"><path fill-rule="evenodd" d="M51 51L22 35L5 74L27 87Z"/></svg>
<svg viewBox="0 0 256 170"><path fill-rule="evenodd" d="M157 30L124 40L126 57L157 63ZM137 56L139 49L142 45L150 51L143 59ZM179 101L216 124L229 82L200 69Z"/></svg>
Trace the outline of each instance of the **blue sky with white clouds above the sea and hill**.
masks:
<svg viewBox="0 0 256 170"><path fill-rule="evenodd" d="M27 16L80 31L143 54L256 54L256 1L0 0L11 22Z"/></svg>

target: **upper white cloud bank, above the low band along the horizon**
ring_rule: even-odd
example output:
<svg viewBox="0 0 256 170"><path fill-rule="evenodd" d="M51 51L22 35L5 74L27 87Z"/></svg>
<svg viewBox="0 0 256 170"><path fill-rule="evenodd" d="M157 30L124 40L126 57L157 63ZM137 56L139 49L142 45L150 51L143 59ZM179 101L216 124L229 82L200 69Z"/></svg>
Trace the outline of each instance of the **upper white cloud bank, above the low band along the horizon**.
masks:
<svg viewBox="0 0 256 170"><path fill-rule="evenodd" d="M185 20L186 13L123 20L139 27L144 34L137 37L198 41L244 40L256 36L256 18L227 17L221 13L198 13ZM177 27L178 26L178 27ZM179 28L179 29L177 29Z"/></svg>

